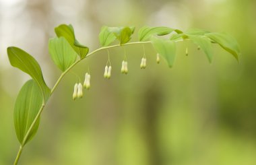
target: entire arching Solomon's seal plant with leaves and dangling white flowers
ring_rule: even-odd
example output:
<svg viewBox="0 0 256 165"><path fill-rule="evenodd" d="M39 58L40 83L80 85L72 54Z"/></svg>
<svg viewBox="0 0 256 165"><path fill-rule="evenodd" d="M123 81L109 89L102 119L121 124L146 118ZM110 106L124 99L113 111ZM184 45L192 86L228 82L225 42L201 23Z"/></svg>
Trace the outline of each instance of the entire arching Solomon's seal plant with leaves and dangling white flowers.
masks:
<svg viewBox="0 0 256 165"><path fill-rule="evenodd" d="M159 63L160 57L162 57L169 67L172 67L174 64L176 42L182 42L184 40L191 40L195 43L198 48L205 53L210 63L212 62L213 57L212 44L220 45L225 51L231 53L237 61L238 56L240 55L236 40L234 40L232 36L224 33L208 32L199 29L191 29L187 32L183 32L168 27L144 26L139 29L139 40L137 42L129 42L134 30L134 27L128 26L103 26L99 34L99 40L102 47L89 53L89 48L80 44L75 38L73 26L61 24L55 28L57 36L49 40L49 54L62 73L53 88L49 88L49 86L46 85L40 65L36 59L18 47L11 46L7 48L7 54L11 65L28 73L32 78L26 81L24 86L22 86L15 101L13 119L15 132L20 141L20 150L18 151L14 164L18 164L24 146L36 134L40 123L40 114L53 92L55 92L61 79L63 79L64 75L77 65L77 63L85 60L87 57L95 55L98 51L106 50L108 53L106 66L102 66L104 68L104 78L106 79L110 78L112 70L108 49L117 46L123 46L125 48L127 45L141 44L144 52L140 64L141 69L145 69L147 63L144 44L152 44L156 50L156 62ZM167 34L169 34L169 36L162 37ZM116 40L119 41L119 44L110 45ZM187 55L187 48L185 52ZM126 55L121 64L121 73L127 74L128 63ZM74 85L73 100L82 98L84 88L90 88L90 71L86 73L83 85L80 82Z"/></svg>

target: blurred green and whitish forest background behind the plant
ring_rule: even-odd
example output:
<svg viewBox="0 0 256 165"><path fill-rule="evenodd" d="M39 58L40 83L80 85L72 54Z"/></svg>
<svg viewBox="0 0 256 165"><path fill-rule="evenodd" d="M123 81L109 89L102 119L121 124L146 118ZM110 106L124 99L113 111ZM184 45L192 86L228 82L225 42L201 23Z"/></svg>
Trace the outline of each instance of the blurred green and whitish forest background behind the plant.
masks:
<svg viewBox="0 0 256 165"><path fill-rule="evenodd" d="M214 46L214 61L191 42L177 44L169 69L156 64L146 44L127 46L129 74L121 75L123 48L110 49L113 74L103 79L106 51L72 72L91 90L71 99L77 77L61 81L44 112L38 133L24 148L20 164L86 165L254 165L256 164L256 1L254 0L0 0L0 164L12 164L19 143L13 104L28 75L14 69L7 46L33 55L50 87L60 71L47 44L59 24L73 24L79 41L99 47L100 27L170 26L228 32L241 45L241 61ZM185 48L189 56L185 56Z"/></svg>

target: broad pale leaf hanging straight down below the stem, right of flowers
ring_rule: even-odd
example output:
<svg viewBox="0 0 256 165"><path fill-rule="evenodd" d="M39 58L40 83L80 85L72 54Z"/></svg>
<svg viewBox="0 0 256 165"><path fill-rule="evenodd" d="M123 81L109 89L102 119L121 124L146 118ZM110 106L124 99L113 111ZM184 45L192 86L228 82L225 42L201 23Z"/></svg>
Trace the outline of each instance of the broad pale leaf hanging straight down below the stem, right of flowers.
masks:
<svg viewBox="0 0 256 165"><path fill-rule="evenodd" d="M167 61L169 67L172 67L176 55L175 42L172 40L156 38L154 36L151 38L151 41L156 52Z"/></svg>

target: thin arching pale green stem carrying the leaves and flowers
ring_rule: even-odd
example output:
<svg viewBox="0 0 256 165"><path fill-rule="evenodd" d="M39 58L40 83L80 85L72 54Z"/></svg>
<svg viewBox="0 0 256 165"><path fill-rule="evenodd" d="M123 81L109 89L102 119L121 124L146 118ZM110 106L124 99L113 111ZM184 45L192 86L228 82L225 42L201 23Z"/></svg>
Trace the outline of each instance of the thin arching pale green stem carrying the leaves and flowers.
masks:
<svg viewBox="0 0 256 165"><path fill-rule="evenodd" d="M91 57L92 55L94 55L95 53L97 53L98 51L102 51L104 49L108 49L108 48L115 48L115 47L118 47L118 46L126 46L126 45L131 45L131 44L146 44L146 43L150 43L150 41L146 41L146 42L129 42L127 44L123 44L123 45L120 45L120 44L115 44L115 45L112 45L112 46L105 46L105 47L102 47L102 48L98 48L96 49L95 51L92 51L91 53L89 53L86 58L88 57ZM84 59L86 59L84 58ZM80 59L79 61L76 61L75 63L73 63L67 70L65 70L63 73L61 73L59 79L57 79L55 85L53 86L53 89L51 90L51 95L53 94L53 92L55 91L55 89L57 88L57 86L59 85L61 79L63 79L64 75L66 73L68 73L73 67L75 67L75 65L77 65L77 63L79 63L80 61L82 61L83 59ZM27 139L28 139L28 135L30 135L30 132L32 131L32 128L34 127L34 125L36 124L36 121L39 119L40 117L40 114L42 113L42 110L44 109L44 102L42 103L42 106L40 108L40 110L38 111L38 113L36 114L36 117L33 121L33 123L30 125L30 128L28 129L28 132L26 133L25 137L24 137L24 140L22 142L22 145L20 145L20 150L15 158L15 162L14 162L14 165L15 164L18 164L18 161L20 159L20 155L22 154L22 149L23 149L23 146L24 144L26 143Z"/></svg>

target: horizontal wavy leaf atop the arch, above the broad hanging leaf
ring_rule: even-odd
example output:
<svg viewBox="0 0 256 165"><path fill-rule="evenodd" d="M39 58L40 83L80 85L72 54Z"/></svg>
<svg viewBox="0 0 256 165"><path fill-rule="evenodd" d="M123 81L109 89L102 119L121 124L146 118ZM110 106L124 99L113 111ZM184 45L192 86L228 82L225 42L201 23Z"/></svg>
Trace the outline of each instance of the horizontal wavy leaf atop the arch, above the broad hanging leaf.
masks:
<svg viewBox="0 0 256 165"><path fill-rule="evenodd" d="M163 36L166 34L170 34L174 29L168 27L148 27L144 26L139 29L138 36L139 41L149 40L152 35Z"/></svg>

